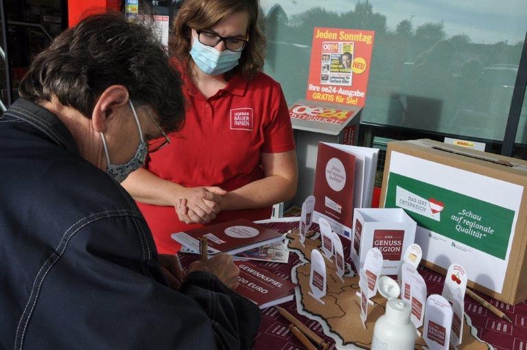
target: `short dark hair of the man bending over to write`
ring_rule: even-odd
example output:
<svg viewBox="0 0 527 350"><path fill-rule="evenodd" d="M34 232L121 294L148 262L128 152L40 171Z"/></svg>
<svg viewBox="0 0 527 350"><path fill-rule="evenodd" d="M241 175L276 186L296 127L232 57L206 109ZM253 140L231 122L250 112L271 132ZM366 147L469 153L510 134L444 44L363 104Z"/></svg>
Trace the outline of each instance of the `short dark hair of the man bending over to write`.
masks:
<svg viewBox="0 0 527 350"><path fill-rule="evenodd" d="M180 77L152 28L152 21L128 21L119 12L87 16L36 56L19 94L34 102L56 96L90 118L104 90L121 84L132 102L152 108L164 130L180 130Z"/></svg>

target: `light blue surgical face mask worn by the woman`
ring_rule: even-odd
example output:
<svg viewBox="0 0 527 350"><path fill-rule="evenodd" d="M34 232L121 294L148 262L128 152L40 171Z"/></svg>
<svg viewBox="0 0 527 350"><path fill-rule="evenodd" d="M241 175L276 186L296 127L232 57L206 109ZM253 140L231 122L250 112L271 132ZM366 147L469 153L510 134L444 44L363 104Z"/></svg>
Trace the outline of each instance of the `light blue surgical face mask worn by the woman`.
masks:
<svg viewBox="0 0 527 350"><path fill-rule="evenodd" d="M218 51L214 47L203 45L200 40L194 36L194 43L190 50L190 56L196 65L205 74L220 75L230 71L238 65L238 60L242 57L242 51Z"/></svg>

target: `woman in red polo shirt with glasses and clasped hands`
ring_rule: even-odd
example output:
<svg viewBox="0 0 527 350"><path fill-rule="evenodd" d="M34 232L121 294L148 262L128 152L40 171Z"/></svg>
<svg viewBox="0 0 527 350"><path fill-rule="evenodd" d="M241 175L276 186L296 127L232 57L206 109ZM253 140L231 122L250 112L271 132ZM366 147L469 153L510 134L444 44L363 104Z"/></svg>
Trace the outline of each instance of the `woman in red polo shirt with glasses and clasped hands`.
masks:
<svg viewBox="0 0 527 350"><path fill-rule="evenodd" d="M269 218L296 192L288 106L261 72L265 38L257 0L186 0L170 49L187 99L185 127L124 187L143 212L159 253L178 231L235 218Z"/></svg>

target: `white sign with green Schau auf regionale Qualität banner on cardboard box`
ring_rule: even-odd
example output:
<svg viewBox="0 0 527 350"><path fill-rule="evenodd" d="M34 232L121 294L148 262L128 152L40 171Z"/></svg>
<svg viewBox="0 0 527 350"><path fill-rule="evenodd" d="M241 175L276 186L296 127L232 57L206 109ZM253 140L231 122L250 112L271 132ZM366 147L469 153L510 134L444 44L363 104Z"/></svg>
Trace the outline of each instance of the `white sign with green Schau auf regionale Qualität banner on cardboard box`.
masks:
<svg viewBox="0 0 527 350"><path fill-rule="evenodd" d="M423 151L420 154L430 158L439 152L432 141L434 148L430 151L421 147L425 143L428 141L408 141L408 150L411 144L412 152L415 148L415 152ZM502 170L494 166L484 168L481 161L472 161L468 156L462 163L458 156L443 153L445 159L452 157L450 164L390 152L383 204L406 209L419 222L416 243L423 248L423 259L444 269L452 261L460 262L471 281L509 295L511 290L504 290L504 283L506 275L513 275L506 272L511 271L509 258L524 187L493 178L493 174L502 176ZM422 204L414 205L415 200Z"/></svg>

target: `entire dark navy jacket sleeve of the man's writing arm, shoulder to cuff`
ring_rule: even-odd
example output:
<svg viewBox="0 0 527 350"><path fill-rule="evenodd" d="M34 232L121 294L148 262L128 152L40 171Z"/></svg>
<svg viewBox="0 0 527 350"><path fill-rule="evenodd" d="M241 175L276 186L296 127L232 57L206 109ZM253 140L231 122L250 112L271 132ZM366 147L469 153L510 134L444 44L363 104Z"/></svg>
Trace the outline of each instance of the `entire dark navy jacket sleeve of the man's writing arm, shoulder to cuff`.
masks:
<svg viewBox="0 0 527 350"><path fill-rule="evenodd" d="M139 218L83 226L60 257L50 253L57 258L27 307L23 349L249 349L257 307L208 272L172 290L153 243Z"/></svg>

